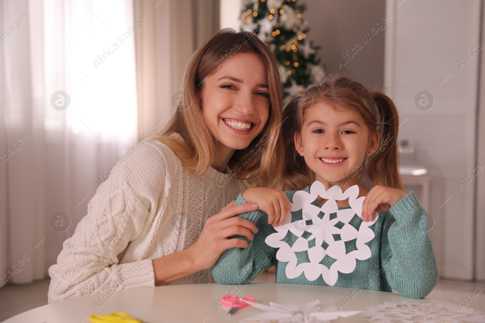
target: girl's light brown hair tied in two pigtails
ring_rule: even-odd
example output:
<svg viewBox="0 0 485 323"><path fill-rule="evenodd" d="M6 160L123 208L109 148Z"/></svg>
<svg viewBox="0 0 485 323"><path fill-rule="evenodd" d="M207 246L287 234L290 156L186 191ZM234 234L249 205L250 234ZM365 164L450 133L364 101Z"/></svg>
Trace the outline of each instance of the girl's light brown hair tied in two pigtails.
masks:
<svg viewBox="0 0 485 323"><path fill-rule="evenodd" d="M399 116L394 102L382 90L369 91L361 83L335 74L323 82L310 84L303 94L293 98L283 109L285 169L281 179L283 183L280 184L283 190L302 189L315 181L315 173L296 152L293 138L303 127L305 111L316 103L357 110L371 133L378 132L380 138L377 150L362 164L362 177L372 185L404 189L398 166Z"/></svg>

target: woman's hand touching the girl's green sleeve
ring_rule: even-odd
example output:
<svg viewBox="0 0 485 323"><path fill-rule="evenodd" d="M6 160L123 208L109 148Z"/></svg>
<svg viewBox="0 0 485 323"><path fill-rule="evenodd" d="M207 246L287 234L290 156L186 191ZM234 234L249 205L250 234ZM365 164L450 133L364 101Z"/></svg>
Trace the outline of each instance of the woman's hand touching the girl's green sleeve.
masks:
<svg viewBox="0 0 485 323"><path fill-rule="evenodd" d="M256 225L235 215L258 209L256 203L244 203L234 206L233 200L221 212L210 216L202 229L197 241L188 250L197 269L209 269L217 261L224 250L234 247L247 248L247 242L241 239L227 239L233 235L242 235L253 240L253 233L258 232Z"/></svg>

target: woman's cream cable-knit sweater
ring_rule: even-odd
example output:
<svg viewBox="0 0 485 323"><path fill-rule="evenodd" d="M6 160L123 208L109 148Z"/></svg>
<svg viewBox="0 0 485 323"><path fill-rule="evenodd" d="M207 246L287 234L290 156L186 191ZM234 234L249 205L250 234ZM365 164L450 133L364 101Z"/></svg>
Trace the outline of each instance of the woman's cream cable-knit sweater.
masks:
<svg viewBox="0 0 485 323"><path fill-rule="evenodd" d="M49 268L49 303L155 286L151 259L192 246L206 219L251 187L230 176L229 167L227 174L209 167L191 176L160 141L141 146L97 187L87 215L64 242ZM168 285L213 282L203 270Z"/></svg>

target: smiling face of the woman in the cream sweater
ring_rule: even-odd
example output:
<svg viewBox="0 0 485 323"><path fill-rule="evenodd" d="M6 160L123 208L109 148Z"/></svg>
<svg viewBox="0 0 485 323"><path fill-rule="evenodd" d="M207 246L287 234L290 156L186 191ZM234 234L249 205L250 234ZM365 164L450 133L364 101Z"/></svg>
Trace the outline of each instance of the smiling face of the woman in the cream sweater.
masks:
<svg viewBox="0 0 485 323"><path fill-rule="evenodd" d="M254 53L237 53L203 80L198 93L206 123L230 149L244 149L268 120L266 66Z"/></svg>

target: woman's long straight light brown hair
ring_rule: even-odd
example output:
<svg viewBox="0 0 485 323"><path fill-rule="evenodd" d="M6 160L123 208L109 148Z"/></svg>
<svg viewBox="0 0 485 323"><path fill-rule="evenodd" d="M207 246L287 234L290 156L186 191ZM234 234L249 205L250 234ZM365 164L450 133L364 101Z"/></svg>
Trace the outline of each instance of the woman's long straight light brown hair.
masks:
<svg viewBox="0 0 485 323"><path fill-rule="evenodd" d="M281 174L282 140L279 136L282 110L282 83L279 64L268 46L258 36L249 32L223 29L199 46L189 59L182 84L177 109L167 125L155 136L169 146L183 165L202 173L212 165L217 154L217 138L210 131L197 103L196 93L204 86L204 79L223 66L226 60L238 53L254 53L266 66L270 111L261 133L245 149L236 150L229 160L231 175L246 179L258 186L278 188ZM248 66L247 68L251 68ZM182 140L173 134L178 133ZM281 188L281 187L279 187Z"/></svg>

